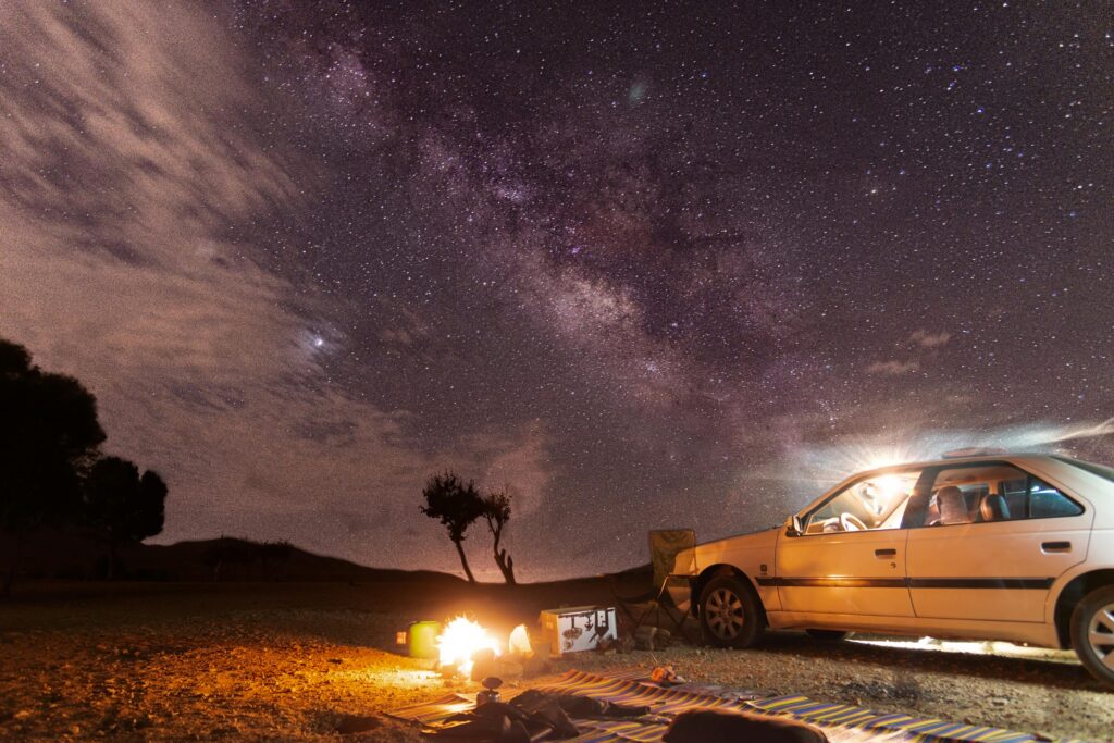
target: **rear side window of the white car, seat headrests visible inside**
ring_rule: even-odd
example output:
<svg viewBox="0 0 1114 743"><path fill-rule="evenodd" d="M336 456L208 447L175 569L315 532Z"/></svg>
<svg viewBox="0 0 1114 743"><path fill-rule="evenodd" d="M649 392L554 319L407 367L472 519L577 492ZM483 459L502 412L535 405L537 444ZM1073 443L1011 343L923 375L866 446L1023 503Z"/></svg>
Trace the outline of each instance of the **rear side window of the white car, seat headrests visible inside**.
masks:
<svg viewBox="0 0 1114 743"><path fill-rule="evenodd" d="M932 480L925 526L1077 516L1083 507L1006 462L941 468Z"/></svg>

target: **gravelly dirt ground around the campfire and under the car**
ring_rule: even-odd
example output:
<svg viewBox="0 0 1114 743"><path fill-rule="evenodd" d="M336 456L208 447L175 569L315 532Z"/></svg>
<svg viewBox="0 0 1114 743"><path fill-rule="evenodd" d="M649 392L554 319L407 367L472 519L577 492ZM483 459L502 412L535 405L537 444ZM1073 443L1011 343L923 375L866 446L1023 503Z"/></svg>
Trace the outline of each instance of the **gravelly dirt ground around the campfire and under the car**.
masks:
<svg viewBox="0 0 1114 743"><path fill-rule="evenodd" d="M420 740L381 713L476 687L404 657L398 629L463 612L504 633L519 622L532 628L547 605L609 597L590 580L514 593L405 584L25 586L0 604L0 737ZM579 654L528 669L515 685L573 667L648 673L662 664L701 683L1048 736L1110 740L1114 730L1114 693L1069 654L998 644L818 644L783 634L745 652Z"/></svg>

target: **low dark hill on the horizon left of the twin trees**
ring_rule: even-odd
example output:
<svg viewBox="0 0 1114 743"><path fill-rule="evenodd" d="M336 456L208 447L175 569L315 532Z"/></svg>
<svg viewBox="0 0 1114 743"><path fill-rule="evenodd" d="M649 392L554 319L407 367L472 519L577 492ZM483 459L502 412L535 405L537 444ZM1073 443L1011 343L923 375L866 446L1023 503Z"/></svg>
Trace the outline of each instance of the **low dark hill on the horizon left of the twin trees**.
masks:
<svg viewBox="0 0 1114 743"><path fill-rule="evenodd" d="M88 532L42 532L29 537L21 553L21 573L28 578L95 579L105 574L104 542ZM10 554L6 551L4 556ZM118 554L124 579L463 583L447 573L371 568L315 555L287 542L234 537L123 545Z"/></svg>

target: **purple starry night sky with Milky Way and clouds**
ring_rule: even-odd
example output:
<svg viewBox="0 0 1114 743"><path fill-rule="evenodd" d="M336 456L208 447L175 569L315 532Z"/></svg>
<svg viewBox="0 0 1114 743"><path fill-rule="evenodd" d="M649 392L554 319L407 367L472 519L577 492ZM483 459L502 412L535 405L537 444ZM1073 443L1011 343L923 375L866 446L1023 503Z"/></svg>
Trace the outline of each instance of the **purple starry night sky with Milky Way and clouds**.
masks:
<svg viewBox="0 0 1114 743"><path fill-rule="evenodd" d="M455 570L449 468L538 580L867 465L1114 461L1110 3L13 2L0 113L0 336L160 541Z"/></svg>

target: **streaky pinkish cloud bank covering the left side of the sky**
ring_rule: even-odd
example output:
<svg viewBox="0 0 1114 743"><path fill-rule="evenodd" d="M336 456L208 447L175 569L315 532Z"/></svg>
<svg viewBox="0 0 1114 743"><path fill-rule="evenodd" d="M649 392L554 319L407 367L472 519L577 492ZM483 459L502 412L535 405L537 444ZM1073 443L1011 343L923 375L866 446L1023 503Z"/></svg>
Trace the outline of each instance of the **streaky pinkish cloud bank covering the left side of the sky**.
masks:
<svg viewBox="0 0 1114 743"><path fill-rule="evenodd" d="M412 566L408 535L436 532L418 493L443 462L538 508L540 429L430 450L410 411L330 381L346 307L280 273L254 229L312 206L320 174L254 133L263 104L233 48L192 6L0 6L0 335L82 380L107 449L165 476L162 540ZM380 310L375 336L422 343L403 303ZM423 565L457 568L451 550Z"/></svg>

